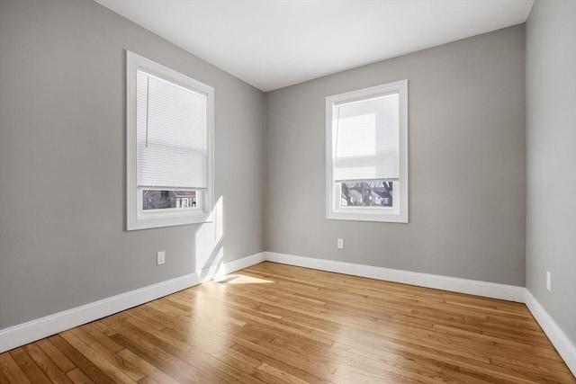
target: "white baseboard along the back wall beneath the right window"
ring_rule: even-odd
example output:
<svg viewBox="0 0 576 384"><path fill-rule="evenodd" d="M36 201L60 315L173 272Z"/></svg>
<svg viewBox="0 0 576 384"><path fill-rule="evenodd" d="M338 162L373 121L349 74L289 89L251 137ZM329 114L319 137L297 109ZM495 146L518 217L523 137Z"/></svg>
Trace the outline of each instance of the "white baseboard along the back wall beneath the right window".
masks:
<svg viewBox="0 0 576 384"><path fill-rule="evenodd" d="M314 259L294 255L266 252L266 260L275 263L297 265L321 271L346 273L371 279L401 282L437 290L451 290L493 299L524 302L524 287L498 284L495 282L459 279L456 277L436 274L401 271L391 268L374 267L370 265L335 262L332 260Z"/></svg>

